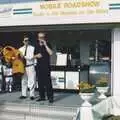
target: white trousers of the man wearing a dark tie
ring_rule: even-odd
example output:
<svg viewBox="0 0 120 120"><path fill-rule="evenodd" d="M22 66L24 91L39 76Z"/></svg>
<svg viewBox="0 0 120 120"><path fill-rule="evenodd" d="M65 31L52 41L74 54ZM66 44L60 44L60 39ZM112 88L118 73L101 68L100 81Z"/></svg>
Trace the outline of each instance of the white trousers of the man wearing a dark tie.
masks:
<svg viewBox="0 0 120 120"><path fill-rule="evenodd" d="M22 96L27 96L27 89L30 90L30 97L35 96L36 72L34 66L26 67L22 78Z"/></svg>

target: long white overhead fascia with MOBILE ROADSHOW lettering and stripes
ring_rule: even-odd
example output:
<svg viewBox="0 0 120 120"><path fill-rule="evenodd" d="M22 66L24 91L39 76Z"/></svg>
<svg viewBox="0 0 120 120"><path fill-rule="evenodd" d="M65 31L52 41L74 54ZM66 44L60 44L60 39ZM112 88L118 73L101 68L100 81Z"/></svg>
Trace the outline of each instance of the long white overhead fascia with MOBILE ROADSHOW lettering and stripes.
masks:
<svg viewBox="0 0 120 120"><path fill-rule="evenodd" d="M0 5L0 26L119 23L120 0L67 0Z"/></svg>

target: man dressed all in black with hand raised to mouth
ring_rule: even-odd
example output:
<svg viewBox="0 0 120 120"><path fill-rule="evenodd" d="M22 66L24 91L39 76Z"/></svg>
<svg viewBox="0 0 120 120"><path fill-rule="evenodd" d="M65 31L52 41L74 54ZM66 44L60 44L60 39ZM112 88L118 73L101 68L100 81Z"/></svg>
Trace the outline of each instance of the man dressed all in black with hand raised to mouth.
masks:
<svg viewBox="0 0 120 120"><path fill-rule="evenodd" d="M35 56L37 58L37 72L38 72L38 90L39 99L37 101L45 100L45 89L50 103L53 103L53 89L50 76L50 56L52 55L50 44L45 39L45 33L38 33L38 44L35 47Z"/></svg>

